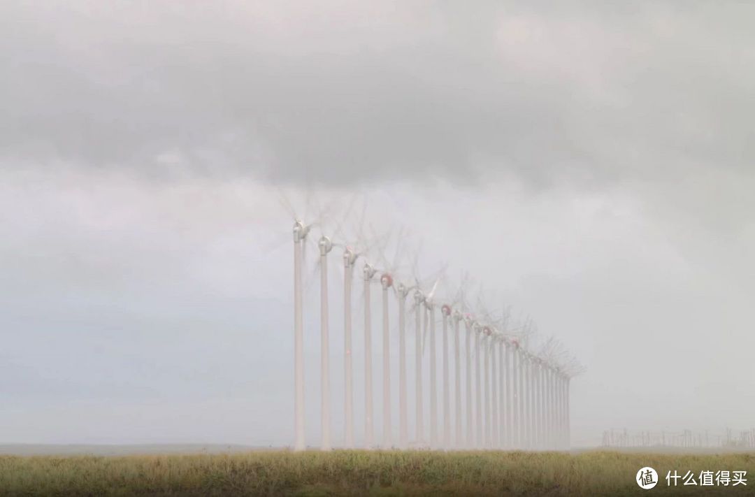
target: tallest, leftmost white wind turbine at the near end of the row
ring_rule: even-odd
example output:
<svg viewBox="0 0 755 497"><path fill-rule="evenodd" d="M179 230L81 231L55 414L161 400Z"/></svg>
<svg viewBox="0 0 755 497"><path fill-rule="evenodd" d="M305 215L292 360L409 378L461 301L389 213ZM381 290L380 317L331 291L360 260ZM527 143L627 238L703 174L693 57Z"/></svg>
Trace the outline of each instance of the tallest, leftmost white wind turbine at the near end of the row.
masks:
<svg viewBox="0 0 755 497"><path fill-rule="evenodd" d="M294 450L304 450L304 319L301 282L302 245L312 225L294 221Z"/></svg>

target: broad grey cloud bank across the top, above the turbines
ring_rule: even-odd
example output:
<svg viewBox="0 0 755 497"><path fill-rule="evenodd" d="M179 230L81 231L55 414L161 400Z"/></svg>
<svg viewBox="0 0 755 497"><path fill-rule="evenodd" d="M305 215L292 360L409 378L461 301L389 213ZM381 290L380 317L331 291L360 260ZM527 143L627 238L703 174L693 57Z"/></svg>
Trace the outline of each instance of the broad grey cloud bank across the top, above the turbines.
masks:
<svg viewBox="0 0 755 497"><path fill-rule="evenodd" d="M331 184L503 171L550 184L742 169L755 156L750 5L0 11L11 159Z"/></svg>

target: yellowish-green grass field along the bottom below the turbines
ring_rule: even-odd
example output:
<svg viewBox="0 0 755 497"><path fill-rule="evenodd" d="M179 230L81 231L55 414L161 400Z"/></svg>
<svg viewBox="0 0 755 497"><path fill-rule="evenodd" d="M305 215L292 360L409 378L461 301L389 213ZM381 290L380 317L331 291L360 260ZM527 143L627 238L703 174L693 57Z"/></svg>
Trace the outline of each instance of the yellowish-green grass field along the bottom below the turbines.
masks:
<svg viewBox="0 0 755 497"><path fill-rule="evenodd" d="M634 483L651 466L655 489ZM667 487L669 470L747 471L747 486ZM682 483L680 481L680 483ZM755 495L755 454L246 452L0 456L2 495Z"/></svg>

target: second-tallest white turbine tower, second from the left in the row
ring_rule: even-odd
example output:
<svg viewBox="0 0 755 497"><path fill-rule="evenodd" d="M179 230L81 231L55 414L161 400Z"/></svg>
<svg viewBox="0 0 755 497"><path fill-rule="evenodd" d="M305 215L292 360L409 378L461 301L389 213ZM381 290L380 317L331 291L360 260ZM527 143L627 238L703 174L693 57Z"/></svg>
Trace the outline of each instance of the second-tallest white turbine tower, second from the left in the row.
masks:
<svg viewBox="0 0 755 497"><path fill-rule="evenodd" d="M322 450L331 449L330 439L330 344L328 341L328 253L333 248L331 239L322 236L320 248L320 389L322 403L320 421L322 423Z"/></svg>

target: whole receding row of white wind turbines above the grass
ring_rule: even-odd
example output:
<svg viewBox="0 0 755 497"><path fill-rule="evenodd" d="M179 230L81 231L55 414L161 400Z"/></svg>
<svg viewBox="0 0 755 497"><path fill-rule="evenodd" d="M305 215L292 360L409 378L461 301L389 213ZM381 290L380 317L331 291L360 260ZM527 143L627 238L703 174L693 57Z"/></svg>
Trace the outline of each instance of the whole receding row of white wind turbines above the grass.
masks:
<svg viewBox="0 0 755 497"><path fill-rule="evenodd" d="M304 283L303 266L306 242L313 224L295 220L294 239L294 450L306 449L304 411ZM528 350L521 334L507 329L501 319L481 310L470 311L460 302L436 298L439 279L425 291L414 277L412 282L395 281L394 270L384 261L380 270L366 260L365 252L350 245L334 244L322 235L318 242L320 274L320 449L333 448L331 438L330 323L328 313L328 258L333 248L343 248L344 267L344 446L355 448L353 360L353 281L361 267L363 284L364 338L364 437L365 449L569 449L569 384L580 366L558 342L550 340L538 353ZM373 335L371 290L379 282L382 298L382 396L381 438L375 437L373 375ZM390 295L393 291L393 298ZM411 295L411 298L410 298ZM389 306L398 309L398 346L390 343ZM407 301L412 301L407 309ZM408 426L408 357L406 333L408 313L414 312L414 433ZM440 313L440 332L436 318ZM430 389L429 418L424 412L424 349L429 342ZM440 390L438 362L440 341ZM398 354L398 440L392 426L391 357ZM451 372L453 377L451 378ZM464 385L464 387L462 387ZM439 398L440 394L440 398ZM440 401L440 409L439 409ZM428 429L425 422L428 421ZM429 433L428 433L429 432ZM428 436L429 435L429 436Z"/></svg>

